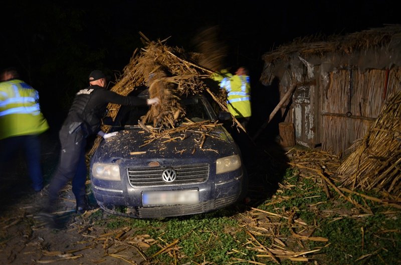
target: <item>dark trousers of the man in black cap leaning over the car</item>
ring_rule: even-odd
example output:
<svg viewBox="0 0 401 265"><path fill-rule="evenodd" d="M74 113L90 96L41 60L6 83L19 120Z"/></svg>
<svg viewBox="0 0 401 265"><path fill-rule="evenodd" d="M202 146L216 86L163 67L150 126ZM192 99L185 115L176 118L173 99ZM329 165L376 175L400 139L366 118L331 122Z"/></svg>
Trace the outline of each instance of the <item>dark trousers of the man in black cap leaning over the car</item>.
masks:
<svg viewBox="0 0 401 265"><path fill-rule="evenodd" d="M80 129L70 134L68 126L63 126L60 129L59 136L61 142L60 161L48 188L49 201L46 206L48 211L54 209L59 191L69 180L72 180L72 191L77 205L82 205L85 199L86 138Z"/></svg>

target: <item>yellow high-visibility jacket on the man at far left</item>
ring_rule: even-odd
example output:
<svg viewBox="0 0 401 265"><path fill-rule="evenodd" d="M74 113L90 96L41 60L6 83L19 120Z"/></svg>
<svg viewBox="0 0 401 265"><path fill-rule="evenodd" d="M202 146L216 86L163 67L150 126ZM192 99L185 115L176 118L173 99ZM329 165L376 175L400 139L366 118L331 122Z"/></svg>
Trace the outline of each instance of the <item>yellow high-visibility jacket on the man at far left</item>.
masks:
<svg viewBox="0 0 401 265"><path fill-rule="evenodd" d="M48 128L37 90L18 79L0 82L0 139L37 135Z"/></svg>

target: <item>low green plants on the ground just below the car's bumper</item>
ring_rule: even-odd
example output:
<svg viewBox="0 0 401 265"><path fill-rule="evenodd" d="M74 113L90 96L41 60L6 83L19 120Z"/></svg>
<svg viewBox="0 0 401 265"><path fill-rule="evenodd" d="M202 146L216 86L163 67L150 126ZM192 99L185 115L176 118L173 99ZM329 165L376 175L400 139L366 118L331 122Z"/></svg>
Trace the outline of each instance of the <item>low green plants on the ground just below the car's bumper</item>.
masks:
<svg viewBox="0 0 401 265"><path fill-rule="evenodd" d="M235 218L235 209L222 209L216 212L183 216L177 218L156 219L132 219L120 216L110 216L107 220L107 228L130 226L137 233L149 234L159 240L160 244L168 245L178 239L179 264L186 262L202 263L205 260L217 264L228 263L233 257L248 254L233 252L234 249L242 249L247 235L239 221ZM99 219L98 222L105 220ZM152 256L160 250L158 244L154 244L146 251L147 256ZM232 254L228 254L233 252ZM156 255L152 260L157 264L174 263L174 258L168 254Z"/></svg>

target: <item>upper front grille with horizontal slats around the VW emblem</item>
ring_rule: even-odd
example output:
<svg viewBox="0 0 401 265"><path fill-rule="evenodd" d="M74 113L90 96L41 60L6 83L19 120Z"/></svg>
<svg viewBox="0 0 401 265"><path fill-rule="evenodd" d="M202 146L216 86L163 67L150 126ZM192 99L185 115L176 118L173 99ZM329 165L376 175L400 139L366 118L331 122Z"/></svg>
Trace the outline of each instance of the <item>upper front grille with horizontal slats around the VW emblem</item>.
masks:
<svg viewBox="0 0 401 265"><path fill-rule="evenodd" d="M173 182L165 182L161 177L166 167L128 168L129 183L133 186L180 185L202 183L209 177L209 164L177 165L172 168L177 173Z"/></svg>

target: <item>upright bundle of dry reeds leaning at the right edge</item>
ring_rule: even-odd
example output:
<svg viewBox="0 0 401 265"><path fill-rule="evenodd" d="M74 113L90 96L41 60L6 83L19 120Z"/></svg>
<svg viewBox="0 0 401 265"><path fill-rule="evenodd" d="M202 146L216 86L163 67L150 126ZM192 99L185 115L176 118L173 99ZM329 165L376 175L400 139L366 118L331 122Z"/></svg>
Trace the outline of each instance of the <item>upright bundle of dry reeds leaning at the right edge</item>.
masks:
<svg viewBox="0 0 401 265"><path fill-rule="evenodd" d="M344 185L401 191L401 91L391 97L337 172Z"/></svg>

